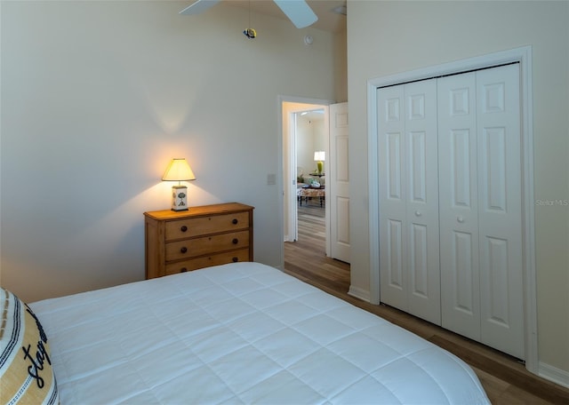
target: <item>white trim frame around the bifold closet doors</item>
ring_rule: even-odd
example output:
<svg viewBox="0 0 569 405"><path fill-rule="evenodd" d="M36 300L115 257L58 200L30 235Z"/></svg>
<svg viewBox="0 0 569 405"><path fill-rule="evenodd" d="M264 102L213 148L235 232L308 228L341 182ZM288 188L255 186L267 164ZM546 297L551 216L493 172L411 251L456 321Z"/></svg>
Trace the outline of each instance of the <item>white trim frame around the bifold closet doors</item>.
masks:
<svg viewBox="0 0 569 405"><path fill-rule="evenodd" d="M533 93L532 47L523 46L503 52L457 60L396 75L386 75L367 82L367 142L370 223L370 302L379 304L380 297L380 237L377 142L377 89L379 87L423 80L439 75L452 75L469 70L501 64L520 64L520 104L522 142L522 247L524 251L525 368L539 374L537 336L537 291L535 274L535 239L533 208Z"/></svg>

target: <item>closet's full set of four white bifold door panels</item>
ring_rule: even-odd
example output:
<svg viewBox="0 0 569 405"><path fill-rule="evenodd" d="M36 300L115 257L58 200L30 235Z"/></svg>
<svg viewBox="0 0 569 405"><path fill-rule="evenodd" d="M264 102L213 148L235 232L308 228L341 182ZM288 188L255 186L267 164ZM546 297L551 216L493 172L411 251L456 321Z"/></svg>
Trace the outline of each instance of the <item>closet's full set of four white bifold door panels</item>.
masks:
<svg viewBox="0 0 569 405"><path fill-rule="evenodd" d="M377 106L381 302L523 359L519 64Z"/></svg>

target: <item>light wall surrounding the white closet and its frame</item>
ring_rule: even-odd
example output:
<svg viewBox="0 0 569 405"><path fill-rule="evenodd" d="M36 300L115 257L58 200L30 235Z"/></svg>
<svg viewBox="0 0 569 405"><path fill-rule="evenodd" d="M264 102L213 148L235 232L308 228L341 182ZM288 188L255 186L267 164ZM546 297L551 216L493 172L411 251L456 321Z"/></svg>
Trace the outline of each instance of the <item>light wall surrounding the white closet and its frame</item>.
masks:
<svg viewBox="0 0 569 405"><path fill-rule="evenodd" d="M348 3L352 287L369 291L369 79L533 47L534 196L541 365L569 376L569 3ZM373 271L377 271L374 269ZM565 374L564 374L565 373Z"/></svg>

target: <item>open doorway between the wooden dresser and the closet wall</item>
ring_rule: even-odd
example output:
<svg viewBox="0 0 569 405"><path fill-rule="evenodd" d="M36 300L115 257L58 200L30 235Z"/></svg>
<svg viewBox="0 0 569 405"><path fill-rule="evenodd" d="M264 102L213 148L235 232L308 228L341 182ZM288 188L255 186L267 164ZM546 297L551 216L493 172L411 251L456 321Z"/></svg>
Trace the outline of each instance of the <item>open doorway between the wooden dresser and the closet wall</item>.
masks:
<svg viewBox="0 0 569 405"><path fill-rule="evenodd" d="M284 97L279 98L279 101L283 163L283 269L319 288L349 292L348 103L334 104L325 100ZM306 217L301 218L303 223L299 229L301 202L297 191L300 183L297 175L317 171L314 152L319 152L320 146L316 143L308 147L309 151L305 151L308 158L304 160L307 163L298 163L296 124L302 117L309 118L317 110L324 110L326 139L322 147L325 152L322 172L325 179L318 182L325 185L322 207L325 221L322 226L322 218L318 218L314 211L309 211L310 208L315 208L322 212L319 198L312 199L309 200L309 205L302 205L302 210L306 209L307 212L302 212ZM307 114L301 115L304 112ZM299 236L304 237L299 239Z"/></svg>

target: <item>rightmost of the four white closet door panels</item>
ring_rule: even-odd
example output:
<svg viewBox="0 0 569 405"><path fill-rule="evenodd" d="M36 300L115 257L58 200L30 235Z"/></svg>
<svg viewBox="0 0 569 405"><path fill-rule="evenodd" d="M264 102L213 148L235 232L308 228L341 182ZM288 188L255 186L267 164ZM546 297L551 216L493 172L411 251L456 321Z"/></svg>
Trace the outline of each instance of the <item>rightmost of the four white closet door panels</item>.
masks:
<svg viewBox="0 0 569 405"><path fill-rule="evenodd" d="M482 342L524 358L519 67L477 72Z"/></svg>

